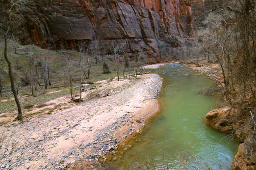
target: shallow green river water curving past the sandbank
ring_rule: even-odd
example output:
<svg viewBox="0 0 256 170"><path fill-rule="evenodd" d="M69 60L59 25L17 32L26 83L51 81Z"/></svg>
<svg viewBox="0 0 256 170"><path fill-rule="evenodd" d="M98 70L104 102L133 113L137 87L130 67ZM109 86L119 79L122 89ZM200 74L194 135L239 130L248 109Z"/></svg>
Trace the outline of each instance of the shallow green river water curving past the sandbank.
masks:
<svg viewBox="0 0 256 170"><path fill-rule="evenodd" d="M111 164L118 169L137 164L163 169L167 162L169 169L229 169L238 143L204 124L205 114L220 100L198 92L214 82L175 63L153 72L163 78L161 111L137 137L140 142Z"/></svg>

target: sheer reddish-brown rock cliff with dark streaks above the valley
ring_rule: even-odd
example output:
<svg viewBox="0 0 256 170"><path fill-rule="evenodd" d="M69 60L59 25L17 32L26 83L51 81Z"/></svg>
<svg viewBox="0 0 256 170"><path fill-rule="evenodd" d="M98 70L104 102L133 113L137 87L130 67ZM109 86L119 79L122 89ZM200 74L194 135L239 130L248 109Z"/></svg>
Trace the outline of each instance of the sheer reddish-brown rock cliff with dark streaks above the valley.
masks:
<svg viewBox="0 0 256 170"><path fill-rule="evenodd" d="M39 0L26 15L23 44L77 49L78 42L100 41L104 53L111 42L128 40L131 52L156 54L172 37L191 37L190 0Z"/></svg>

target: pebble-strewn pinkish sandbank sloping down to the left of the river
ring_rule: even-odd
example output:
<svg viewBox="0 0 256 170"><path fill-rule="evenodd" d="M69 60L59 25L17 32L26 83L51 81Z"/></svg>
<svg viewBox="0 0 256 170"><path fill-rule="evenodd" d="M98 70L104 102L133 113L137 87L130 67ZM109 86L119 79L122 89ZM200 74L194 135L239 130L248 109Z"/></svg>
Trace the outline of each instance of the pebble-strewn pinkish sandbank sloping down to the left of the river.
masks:
<svg viewBox="0 0 256 170"><path fill-rule="evenodd" d="M100 97L85 92L82 103L1 126L1 169L61 169L79 159L97 160L158 111L157 74L99 83L93 94Z"/></svg>

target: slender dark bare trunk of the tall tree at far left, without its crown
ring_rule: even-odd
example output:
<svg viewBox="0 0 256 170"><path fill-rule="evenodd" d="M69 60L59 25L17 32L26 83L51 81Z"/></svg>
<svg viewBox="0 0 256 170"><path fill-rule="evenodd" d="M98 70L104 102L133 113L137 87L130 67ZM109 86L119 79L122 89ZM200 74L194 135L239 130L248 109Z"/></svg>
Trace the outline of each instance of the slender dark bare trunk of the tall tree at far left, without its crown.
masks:
<svg viewBox="0 0 256 170"><path fill-rule="evenodd" d="M7 37L6 37L6 35L4 35L4 38L5 38L5 49L4 49L3 55L5 56L5 60L8 63L9 78L10 78L10 82L11 82L11 91L14 95L14 100L15 100L17 108L18 108L18 117L17 117L17 119L22 121L22 108L20 107L19 99L18 99L16 90L15 90L15 86L14 86L14 76L12 75L11 62L9 61L9 58L7 57Z"/></svg>

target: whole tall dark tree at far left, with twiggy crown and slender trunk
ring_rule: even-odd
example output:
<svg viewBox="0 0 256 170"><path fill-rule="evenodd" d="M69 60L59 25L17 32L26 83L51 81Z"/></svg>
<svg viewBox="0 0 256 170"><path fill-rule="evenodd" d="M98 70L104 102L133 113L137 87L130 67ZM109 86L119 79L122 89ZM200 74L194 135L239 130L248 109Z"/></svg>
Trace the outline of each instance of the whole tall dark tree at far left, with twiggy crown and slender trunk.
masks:
<svg viewBox="0 0 256 170"><path fill-rule="evenodd" d="M15 89L15 77L13 74L12 62L9 59L7 54L7 44L12 37L17 36L17 30L20 26L20 23L23 22L23 16L21 13L28 12L28 6L31 5L31 0L7 0L7 1L0 1L0 35L3 36L4 42L4 50L3 50L3 57L8 64L9 68L9 78L11 82L11 91L14 95L14 100L18 108L18 120L22 120L22 108L19 103L17 91Z"/></svg>

